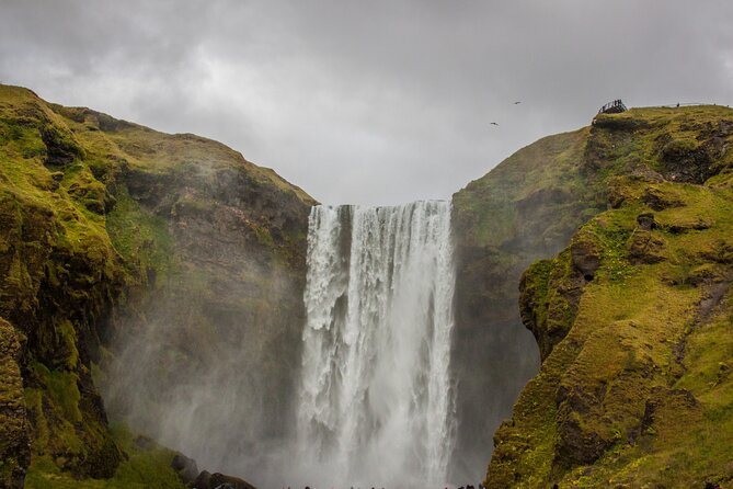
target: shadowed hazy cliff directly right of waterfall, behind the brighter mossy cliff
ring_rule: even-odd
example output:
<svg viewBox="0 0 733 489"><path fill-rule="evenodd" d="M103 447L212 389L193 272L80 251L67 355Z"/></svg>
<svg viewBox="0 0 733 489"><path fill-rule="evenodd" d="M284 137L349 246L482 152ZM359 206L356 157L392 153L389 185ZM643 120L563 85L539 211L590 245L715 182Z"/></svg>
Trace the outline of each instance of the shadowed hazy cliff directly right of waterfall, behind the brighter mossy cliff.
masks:
<svg viewBox="0 0 733 489"><path fill-rule="evenodd" d="M463 476L481 477L473 470L485 464L494 431L539 366L516 306L523 271L560 251L577 226L605 207L584 172L588 137L583 128L540 139L454 195L451 367L461 420L456 463Z"/></svg>

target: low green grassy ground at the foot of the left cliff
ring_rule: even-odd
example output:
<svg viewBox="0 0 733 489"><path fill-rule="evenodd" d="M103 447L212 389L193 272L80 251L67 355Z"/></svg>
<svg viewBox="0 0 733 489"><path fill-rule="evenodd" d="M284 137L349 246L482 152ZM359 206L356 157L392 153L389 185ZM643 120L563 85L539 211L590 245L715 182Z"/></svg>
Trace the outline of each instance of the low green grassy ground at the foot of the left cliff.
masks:
<svg viewBox="0 0 733 489"><path fill-rule="evenodd" d="M154 442L136 437L124 424L112 427L112 435L127 459L111 479L76 479L61 473L48 456L36 456L25 476L28 489L182 489L171 462L175 452Z"/></svg>

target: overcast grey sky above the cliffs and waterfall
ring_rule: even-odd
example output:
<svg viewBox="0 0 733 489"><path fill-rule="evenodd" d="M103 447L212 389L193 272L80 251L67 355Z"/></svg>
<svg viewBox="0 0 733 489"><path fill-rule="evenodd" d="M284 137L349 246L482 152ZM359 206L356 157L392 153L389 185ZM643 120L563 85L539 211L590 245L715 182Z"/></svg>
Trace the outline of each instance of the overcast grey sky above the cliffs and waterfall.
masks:
<svg viewBox="0 0 733 489"><path fill-rule="evenodd" d="M611 99L733 104L733 2L0 0L0 81L397 204Z"/></svg>

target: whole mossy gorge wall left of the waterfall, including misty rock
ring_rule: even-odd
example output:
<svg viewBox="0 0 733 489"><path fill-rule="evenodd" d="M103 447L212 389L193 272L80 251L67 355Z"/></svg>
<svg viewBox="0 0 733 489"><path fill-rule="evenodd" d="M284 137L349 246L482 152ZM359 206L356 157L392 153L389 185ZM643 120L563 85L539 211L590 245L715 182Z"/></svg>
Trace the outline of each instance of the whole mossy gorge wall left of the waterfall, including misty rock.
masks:
<svg viewBox="0 0 733 489"><path fill-rule="evenodd" d="M222 431L276 437L262 431L291 418L314 201L218 143L15 87L0 86L0 486L28 464L31 485L181 485L172 452L108 427L99 386L114 418L194 436L216 468Z"/></svg>

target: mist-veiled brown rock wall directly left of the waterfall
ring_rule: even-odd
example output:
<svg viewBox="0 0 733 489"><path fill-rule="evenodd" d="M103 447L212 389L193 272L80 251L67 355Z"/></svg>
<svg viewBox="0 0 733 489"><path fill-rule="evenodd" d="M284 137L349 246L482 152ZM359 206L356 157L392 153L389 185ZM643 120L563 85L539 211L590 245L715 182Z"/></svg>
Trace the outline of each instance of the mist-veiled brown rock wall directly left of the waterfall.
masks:
<svg viewBox="0 0 733 489"><path fill-rule="evenodd" d="M136 150L154 160L182 146L185 159L116 178L110 234L139 250L127 260L146 287L108 318L105 399L203 466L257 477L253 447L284 439L294 419L314 202L218 143L156 138ZM130 213L149 238L124 226Z"/></svg>

